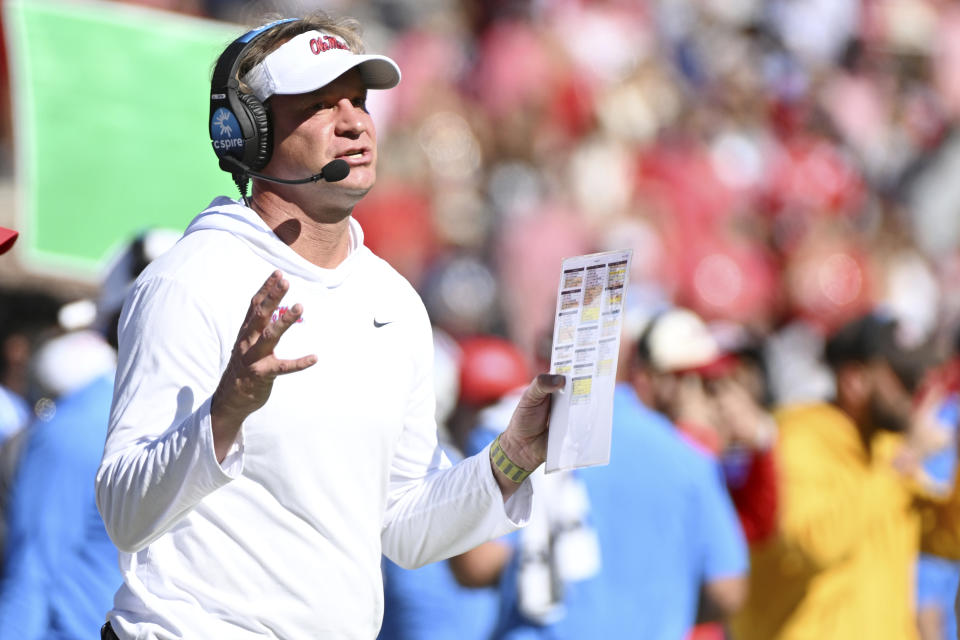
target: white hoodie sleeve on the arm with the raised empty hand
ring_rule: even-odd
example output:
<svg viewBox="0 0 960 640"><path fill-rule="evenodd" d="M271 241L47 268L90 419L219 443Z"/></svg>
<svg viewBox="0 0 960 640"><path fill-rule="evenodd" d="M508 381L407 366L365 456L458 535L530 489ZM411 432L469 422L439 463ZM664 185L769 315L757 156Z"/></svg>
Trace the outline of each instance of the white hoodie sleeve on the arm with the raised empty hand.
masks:
<svg viewBox="0 0 960 640"><path fill-rule="evenodd" d="M210 396L222 340L186 287L163 277L138 281L119 337L97 506L117 547L136 552L240 474L243 444L241 433L217 462Z"/></svg>

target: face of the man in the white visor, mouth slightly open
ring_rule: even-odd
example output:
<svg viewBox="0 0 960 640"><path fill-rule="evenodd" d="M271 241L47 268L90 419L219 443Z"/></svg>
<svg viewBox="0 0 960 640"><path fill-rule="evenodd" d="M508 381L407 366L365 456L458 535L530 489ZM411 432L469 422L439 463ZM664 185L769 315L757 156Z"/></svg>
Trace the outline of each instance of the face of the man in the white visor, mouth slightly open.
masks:
<svg viewBox="0 0 960 640"><path fill-rule="evenodd" d="M337 189L363 196L377 177L377 132L366 99L356 69L312 93L271 97L273 155L264 173L305 178L340 158L350 165L350 174L334 183Z"/></svg>

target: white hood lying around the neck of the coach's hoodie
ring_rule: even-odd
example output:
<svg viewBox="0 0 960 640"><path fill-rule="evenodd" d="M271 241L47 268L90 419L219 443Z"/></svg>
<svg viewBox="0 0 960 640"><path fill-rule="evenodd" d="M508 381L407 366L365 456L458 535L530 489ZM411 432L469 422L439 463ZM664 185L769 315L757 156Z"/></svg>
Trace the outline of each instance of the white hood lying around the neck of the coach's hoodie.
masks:
<svg viewBox="0 0 960 640"><path fill-rule="evenodd" d="M226 231L243 242L255 254L275 265L284 275L320 283L333 288L343 283L356 268L362 253L363 230L353 219L350 223L350 253L334 269L324 269L302 257L283 243L255 211L242 203L220 196L187 226L184 236L197 231Z"/></svg>

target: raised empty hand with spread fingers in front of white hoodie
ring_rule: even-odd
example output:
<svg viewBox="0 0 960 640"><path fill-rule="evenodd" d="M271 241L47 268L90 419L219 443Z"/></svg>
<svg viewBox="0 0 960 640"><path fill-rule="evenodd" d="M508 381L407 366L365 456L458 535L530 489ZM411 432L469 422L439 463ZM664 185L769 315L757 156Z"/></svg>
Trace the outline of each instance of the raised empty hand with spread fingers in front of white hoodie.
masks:
<svg viewBox="0 0 960 640"><path fill-rule="evenodd" d="M278 375L303 371L317 363L317 356L281 360L273 354L277 342L303 313L293 305L275 322L271 321L290 283L274 271L250 301L247 317L240 326L230 361L210 401L214 450L223 462L247 416L262 407Z"/></svg>

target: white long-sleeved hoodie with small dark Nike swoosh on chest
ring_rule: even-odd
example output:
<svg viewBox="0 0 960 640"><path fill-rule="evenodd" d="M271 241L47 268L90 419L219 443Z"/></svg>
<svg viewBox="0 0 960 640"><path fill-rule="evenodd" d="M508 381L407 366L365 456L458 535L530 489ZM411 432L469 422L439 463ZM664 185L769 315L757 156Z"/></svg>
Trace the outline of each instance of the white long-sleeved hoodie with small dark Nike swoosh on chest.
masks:
<svg viewBox="0 0 960 640"><path fill-rule="evenodd" d="M321 269L218 198L128 295L97 474L121 638L373 638L381 551L419 566L529 516L529 484L505 506L486 451L450 467L437 448L426 311L350 234ZM304 311L276 353L319 362L276 379L221 465L210 396L277 268Z"/></svg>

